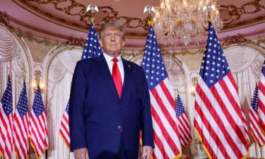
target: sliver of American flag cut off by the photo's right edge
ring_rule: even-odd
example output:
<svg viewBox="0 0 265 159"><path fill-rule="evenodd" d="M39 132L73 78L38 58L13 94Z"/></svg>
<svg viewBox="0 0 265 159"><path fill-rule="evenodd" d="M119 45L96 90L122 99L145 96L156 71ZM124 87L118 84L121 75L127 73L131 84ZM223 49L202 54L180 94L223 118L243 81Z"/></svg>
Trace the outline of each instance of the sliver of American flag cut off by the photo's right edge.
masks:
<svg viewBox="0 0 265 159"><path fill-rule="evenodd" d="M261 125L261 130L265 134L265 60L259 80L259 124Z"/></svg>

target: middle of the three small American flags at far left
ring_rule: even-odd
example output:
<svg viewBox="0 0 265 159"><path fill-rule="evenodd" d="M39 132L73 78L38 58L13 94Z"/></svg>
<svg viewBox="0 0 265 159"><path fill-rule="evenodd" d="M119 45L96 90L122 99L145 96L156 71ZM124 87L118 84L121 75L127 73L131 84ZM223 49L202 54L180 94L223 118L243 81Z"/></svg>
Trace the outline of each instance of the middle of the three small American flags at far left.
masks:
<svg viewBox="0 0 265 159"><path fill-rule="evenodd" d="M28 139L28 97L25 81L18 100L18 106L14 114L13 121L13 141L15 151L18 159L25 159L28 157L29 139Z"/></svg>

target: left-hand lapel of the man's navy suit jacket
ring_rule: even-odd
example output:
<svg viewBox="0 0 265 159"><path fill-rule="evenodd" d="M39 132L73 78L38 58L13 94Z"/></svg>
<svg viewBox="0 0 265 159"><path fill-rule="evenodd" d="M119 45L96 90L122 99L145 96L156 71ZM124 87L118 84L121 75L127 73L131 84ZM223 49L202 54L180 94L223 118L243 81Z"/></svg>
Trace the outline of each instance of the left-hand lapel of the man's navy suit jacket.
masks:
<svg viewBox="0 0 265 159"><path fill-rule="evenodd" d="M110 88L112 88L114 94L117 96L117 98L119 98L119 95L117 93L113 78L112 78L112 74L110 73L110 69L109 66L107 66L107 61L105 59L105 57L103 55L101 55L98 58L99 62L98 62L98 70L100 71L100 73L102 74L103 78L107 79L107 83L110 85Z"/></svg>

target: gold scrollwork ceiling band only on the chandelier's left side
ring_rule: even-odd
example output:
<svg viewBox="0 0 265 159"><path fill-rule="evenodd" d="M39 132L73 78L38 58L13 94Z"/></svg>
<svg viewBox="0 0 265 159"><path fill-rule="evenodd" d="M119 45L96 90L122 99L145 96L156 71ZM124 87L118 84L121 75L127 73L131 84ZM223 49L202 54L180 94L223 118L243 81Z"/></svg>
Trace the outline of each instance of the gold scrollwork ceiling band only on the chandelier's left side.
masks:
<svg viewBox="0 0 265 159"><path fill-rule="evenodd" d="M12 0L16 4L22 6L27 11L33 10L35 13L38 13L47 20L52 19L53 23L62 23L65 25L70 25L72 28L76 28L78 30L88 30L90 27L90 18L92 17L90 12L86 12L86 6L78 3L75 0ZM47 11L42 11L39 7L34 6L33 4L28 3L29 1L35 2L40 5L52 4L57 11L61 11L66 13L68 16L78 16L79 21L81 23L75 23L64 18L58 18L57 16L52 15L52 13L48 13ZM67 4L66 2L71 2ZM75 11L73 11L75 10ZM33 13L32 11L30 11ZM100 28L104 23L114 22L114 21L123 21L126 28L143 28L144 30L148 30L148 17L145 19L136 18L136 17L126 17L126 16L118 16L119 12L114 11L114 9L110 6L99 6L98 12L95 12L93 17L95 18L95 25ZM59 23L58 23L59 22Z"/></svg>

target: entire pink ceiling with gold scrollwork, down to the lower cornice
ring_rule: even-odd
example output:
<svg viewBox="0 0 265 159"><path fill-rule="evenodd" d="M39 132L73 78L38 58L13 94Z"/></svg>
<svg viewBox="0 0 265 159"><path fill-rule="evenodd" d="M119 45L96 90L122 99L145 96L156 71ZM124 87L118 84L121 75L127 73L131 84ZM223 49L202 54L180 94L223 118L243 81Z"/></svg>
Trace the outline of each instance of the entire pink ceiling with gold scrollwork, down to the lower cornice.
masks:
<svg viewBox="0 0 265 159"><path fill-rule="evenodd" d="M92 17L86 7L91 3L99 8L93 15L97 29L107 22L123 23L126 46L141 49L148 32L148 14L143 13L143 8L147 4L159 6L160 1L1 0L0 21L24 33L82 46ZM228 39L228 43L265 37L265 0L218 0L217 3L224 25L219 37Z"/></svg>

